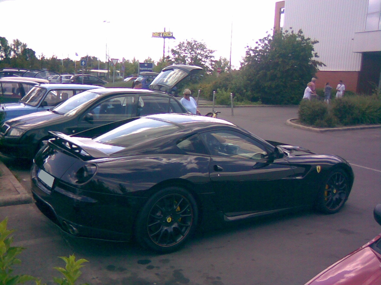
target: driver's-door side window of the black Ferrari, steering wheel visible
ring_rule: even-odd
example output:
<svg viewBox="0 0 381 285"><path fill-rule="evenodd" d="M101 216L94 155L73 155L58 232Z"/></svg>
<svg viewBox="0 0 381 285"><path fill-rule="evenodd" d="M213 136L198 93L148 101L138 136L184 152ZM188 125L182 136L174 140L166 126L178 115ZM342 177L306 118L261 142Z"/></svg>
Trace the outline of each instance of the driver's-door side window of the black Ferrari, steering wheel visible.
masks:
<svg viewBox="0 0 381 285"><path fill-rule="evenodd" d="M212 155L253 160L267 157L266 148L260 142L236 131L210 131L201 137Z"/></svg>

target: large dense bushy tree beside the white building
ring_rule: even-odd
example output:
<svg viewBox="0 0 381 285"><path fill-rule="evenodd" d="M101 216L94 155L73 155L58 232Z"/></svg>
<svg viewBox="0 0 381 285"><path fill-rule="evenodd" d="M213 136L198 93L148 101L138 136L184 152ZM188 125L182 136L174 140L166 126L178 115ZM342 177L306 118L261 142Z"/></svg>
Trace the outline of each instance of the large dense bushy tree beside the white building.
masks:
<svg viewBox="0 0 381 285"><path fill-rule="evenodd" d="M265 104L296 104L318 66L311 40L298 33L280 31L267 35L256 42L256 47L247 47L242 64L242 76L249 82L248 89L259 94Z"/></svg>

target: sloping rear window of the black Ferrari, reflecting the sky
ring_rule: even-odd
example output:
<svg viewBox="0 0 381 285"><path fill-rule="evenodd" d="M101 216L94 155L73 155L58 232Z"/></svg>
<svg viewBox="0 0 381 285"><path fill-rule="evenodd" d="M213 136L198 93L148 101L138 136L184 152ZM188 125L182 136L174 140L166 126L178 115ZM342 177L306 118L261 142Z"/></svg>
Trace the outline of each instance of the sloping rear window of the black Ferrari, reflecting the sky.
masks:
<svg viewBox="0 0 381 285"><path fill-rule="evenodd" d="M160 136L169 135L177 130L179 130L179 127L170 123L141 118L98 136L94 141L113 146L129 147Z"/></svg>

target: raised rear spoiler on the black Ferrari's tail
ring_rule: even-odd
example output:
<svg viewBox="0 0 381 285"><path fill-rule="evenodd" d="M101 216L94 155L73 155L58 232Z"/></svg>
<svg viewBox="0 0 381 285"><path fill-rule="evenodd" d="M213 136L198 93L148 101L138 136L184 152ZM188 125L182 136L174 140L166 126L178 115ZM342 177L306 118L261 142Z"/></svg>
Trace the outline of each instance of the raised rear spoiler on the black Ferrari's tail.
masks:
<svg viewBox="0 0 381 285"><path fill-rule="evenodd" d="M49 133L56 138L56 144L69 150L72 154L92 158L103 158L110 156L95 147L88 146L88 144L85 144L75 137L65 135L59 131L49 131Z"/></svg>

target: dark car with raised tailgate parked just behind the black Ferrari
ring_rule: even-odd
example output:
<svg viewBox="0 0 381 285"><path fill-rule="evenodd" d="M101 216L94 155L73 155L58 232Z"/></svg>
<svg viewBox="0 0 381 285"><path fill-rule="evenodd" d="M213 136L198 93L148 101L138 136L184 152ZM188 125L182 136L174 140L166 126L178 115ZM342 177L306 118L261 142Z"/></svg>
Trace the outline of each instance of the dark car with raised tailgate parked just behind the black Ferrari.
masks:
<svg viewBox="0 0 381 285"><path fill-rule="evenodd" d="M163 69L151 89L100 88L88 90L45 112L5 121L0 126L0 152L32 159L49 131L67 135L130 117L156 113L188 113L165 92L201 67L174 65ZM162 92L160 92L160 91Z"/></svg>

